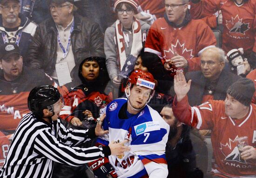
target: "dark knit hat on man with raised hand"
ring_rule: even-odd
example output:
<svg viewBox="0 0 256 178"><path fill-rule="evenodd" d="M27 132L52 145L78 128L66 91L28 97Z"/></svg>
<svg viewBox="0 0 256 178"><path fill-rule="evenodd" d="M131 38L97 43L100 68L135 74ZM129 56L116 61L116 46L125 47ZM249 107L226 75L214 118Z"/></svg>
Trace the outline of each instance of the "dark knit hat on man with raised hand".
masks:
<svg viewBox="0 0 256 178"><path fill-rule="evenodd" d="M249 106L254 92L255 87L253 81L247 78L241 78L229 86L227 94L243 105Z"/></svg>

